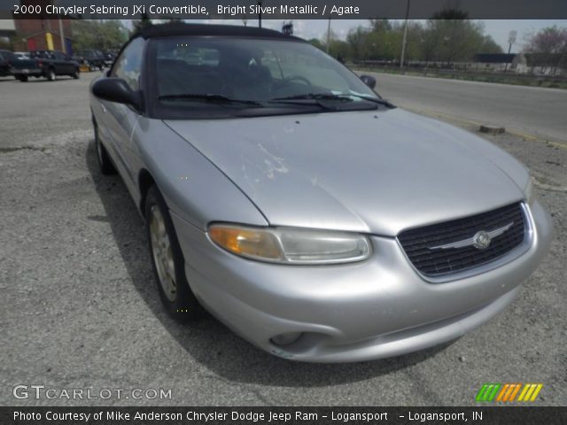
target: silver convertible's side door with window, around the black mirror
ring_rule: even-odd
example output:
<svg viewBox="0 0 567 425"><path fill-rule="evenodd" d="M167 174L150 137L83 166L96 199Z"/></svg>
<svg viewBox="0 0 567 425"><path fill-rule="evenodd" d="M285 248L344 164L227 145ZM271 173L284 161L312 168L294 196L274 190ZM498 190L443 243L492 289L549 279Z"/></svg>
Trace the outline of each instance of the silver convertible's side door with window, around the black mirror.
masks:
<svg viewBox="0 0 567 425"><path fill-rule="evenodd" d="M109 77L121 78L127 82L130 89L140 89L140 75L144 58L144 39L138 37L122 50L116 59ZM123 176L128 189L136 191L136 170L132 161L133 146L131 136L140 118L140 112L126 104L116 104L101 100L105 127L112 139L113 158L120 174Z"/></svg>

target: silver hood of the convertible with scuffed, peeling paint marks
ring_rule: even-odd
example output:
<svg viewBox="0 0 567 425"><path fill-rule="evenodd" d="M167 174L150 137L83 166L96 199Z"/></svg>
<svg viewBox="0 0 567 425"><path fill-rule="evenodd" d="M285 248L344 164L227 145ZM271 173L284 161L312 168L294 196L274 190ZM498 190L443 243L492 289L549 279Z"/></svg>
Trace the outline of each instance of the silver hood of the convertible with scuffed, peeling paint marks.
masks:
<svg viewBox="0 0 567 425"><path fill-rule="evenodd" d="M524 197L514 158L400 109L166 124L275 226L396 236Z"/></svg>

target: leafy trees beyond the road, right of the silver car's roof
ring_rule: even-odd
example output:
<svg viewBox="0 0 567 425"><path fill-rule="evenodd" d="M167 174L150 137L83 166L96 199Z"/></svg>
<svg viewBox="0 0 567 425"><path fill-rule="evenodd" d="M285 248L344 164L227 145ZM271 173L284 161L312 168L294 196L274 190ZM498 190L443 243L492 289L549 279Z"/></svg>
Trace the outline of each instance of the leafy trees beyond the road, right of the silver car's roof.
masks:
<svg viewBox="0 0 567 425"><path fill-rule="evenodd" d="M310 42L344 61L399 62L404 25L403 21L370 19L367 26L351 29L346 40L338 39L331 30L329 36L325 34L322 40L314 38ZM527 35L520 51L526 53L532 66L567 67L567 28L547 27ZM406 63L471 62L479 53L504 53L493 37L485 34L482 22L464 16L459 19L433 17L424 23L408 20Z"/></svg>

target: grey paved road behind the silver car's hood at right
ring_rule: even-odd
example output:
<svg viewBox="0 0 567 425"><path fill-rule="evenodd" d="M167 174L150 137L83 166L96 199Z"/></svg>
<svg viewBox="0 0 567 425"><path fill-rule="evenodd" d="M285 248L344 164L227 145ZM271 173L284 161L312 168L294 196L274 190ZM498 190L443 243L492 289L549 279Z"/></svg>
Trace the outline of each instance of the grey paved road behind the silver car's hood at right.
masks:
<svg viewBox="0 0 567 425"><path fill-rule="evenodd" d="M401 107L567 142L567 90L375 75L378 93Z"/></svg>

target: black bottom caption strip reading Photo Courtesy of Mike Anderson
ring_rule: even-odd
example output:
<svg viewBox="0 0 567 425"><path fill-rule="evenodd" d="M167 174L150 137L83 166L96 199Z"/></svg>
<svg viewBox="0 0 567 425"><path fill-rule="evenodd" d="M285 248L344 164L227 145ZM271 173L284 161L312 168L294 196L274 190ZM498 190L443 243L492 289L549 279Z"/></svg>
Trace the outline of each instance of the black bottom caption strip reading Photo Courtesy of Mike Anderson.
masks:
<svg viewBox="0 0 567 425"><path fill-rule="evenodd" d="M564 425L567 407L0 407L3 425Z"/></svg>

